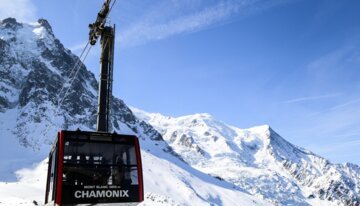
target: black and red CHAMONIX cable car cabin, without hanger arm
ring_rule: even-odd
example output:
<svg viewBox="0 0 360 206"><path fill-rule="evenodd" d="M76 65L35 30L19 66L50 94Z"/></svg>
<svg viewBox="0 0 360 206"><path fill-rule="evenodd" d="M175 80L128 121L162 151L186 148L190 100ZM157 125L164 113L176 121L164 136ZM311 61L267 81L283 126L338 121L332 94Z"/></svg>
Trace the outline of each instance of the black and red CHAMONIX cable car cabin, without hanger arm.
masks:
<svg viewBox="0 0 360 206"><path fill-rule="evenodd" d="M49 155L46 205L136 205L143 199L136 136L58 133Z"/></svg>

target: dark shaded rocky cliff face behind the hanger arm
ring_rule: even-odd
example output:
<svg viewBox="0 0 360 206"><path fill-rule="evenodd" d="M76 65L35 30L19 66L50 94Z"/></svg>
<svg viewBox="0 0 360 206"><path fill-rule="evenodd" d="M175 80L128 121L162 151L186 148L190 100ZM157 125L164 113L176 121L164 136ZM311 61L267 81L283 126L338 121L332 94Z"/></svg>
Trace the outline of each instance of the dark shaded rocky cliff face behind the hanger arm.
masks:
<svg viewBox="0 0 360 206"><path fill-rule="evenodd" d="M56 39L46 20L21 24L8 18L0 22L0 113L5 120L1 125L12 128L23 146L36 149L43 142L51 143L60 129L95 130L97 90L94 75ZM6 121L10 113L15 119ZM115 97L111 125L116 132L162 139ZM39 132L44 137L32 136Z"/></svg>

